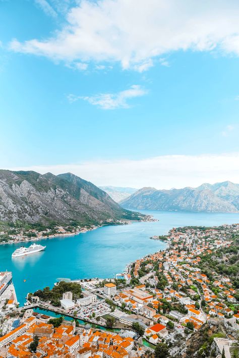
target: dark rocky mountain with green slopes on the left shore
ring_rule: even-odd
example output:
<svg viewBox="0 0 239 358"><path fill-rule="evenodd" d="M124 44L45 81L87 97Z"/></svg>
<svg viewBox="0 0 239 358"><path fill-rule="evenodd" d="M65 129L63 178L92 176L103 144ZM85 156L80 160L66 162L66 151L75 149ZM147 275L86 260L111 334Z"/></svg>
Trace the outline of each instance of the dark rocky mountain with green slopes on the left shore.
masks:
<svg viewBox="0 0 239 358"><path fill-rule="evenodd" d="M71 174L0 170L0 220L25 222L104 223L139 219L107 193Z"/></svg>

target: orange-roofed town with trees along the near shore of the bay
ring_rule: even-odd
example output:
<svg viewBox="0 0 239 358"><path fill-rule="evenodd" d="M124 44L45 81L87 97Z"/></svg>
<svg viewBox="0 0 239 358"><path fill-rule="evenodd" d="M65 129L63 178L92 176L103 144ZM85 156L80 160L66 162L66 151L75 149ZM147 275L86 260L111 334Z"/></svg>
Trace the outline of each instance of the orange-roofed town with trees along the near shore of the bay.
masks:
<svg viewBox="0 0 239 358"><path fill-rule="evenodd" d="M57 282L24 307L2 272L0 357L237 357L238 238L239 224L173 228L122 276Z"/></svg>

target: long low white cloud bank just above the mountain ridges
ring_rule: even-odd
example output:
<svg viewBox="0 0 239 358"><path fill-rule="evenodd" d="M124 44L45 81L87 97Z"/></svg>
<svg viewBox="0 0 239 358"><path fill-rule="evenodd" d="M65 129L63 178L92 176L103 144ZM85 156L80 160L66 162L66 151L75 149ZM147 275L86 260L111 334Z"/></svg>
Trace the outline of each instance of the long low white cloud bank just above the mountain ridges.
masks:
<svg viewBox="0 0 239 358"><path fill-rule="evenodd" d="M9 168L72 172L95 185L155 187L157 189L197 187L202 183L230 180L239 183L239 153L208 155L163 155L141 160L94 160L79 164Z"/></svg>

